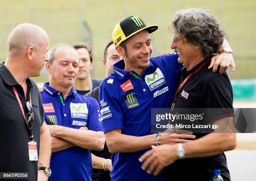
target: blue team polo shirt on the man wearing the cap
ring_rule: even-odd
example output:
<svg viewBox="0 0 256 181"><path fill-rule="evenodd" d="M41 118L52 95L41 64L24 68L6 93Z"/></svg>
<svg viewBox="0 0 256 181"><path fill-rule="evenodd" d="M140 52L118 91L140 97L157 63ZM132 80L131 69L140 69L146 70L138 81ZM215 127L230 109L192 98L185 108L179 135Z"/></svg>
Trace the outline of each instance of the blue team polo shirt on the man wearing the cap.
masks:
<svg viewBox="0 0 256 181"><path fill-rule="evenodd" d="M178 54L168 53L150 58L141 77L128 72L124 60L113 65L114 72L100 85L100 120L104 133L122 129L131 136L151 134L151 108L169 108L175 82L182 68ZM138 158L148 151L114 153L112 181L161 181L163 174L154 176L141 169Z"/></svg>

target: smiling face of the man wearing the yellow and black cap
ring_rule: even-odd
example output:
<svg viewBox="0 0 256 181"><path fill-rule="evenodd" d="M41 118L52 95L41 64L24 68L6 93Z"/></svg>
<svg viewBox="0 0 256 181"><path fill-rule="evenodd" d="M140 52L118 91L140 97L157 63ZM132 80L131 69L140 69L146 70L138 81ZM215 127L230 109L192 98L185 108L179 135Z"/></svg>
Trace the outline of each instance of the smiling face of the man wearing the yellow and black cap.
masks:
<svg viewBox="0 0 256 181"><path fill-rule="evenodd" d="M122 48L117 48L118 53L125 60L125 69L128 71L142 72L149 65L149 58L153 51L151 45L151 37L147 30L143 30L131 36L126 44L126 51ZM120 46L118 46L120 47Z"/></svg>

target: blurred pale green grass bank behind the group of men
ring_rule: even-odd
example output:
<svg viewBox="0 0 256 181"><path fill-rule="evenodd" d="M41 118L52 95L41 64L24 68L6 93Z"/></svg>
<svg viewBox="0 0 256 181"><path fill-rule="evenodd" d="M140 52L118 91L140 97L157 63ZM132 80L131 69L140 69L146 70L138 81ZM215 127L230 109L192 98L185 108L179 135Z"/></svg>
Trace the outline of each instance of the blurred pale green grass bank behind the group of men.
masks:
<svg viewBox="0 0 256 181"><path fill-rule="evenodd" d="M256 57L256 1L222 1L220 14L221 0L0 0L0 59L5 60L8 35L19 23L30 22L44 28L49 35L50 46L57 43L80 43L84 33L80 17L80 10L83 9L83 18L92 30L93 77L104 78L105 70L101 63L103 50L111 38L114 26L121 18L137 15L147 25L159 25L159 30L151 34L156 45L154 55L158 55L172 51L172 33L168 31L168 24L174 13L186 7L195 7L209 9L226 30L234 56L245 57L245 60L236 60L236 74L231 78L255 78L256 58L246 60L246 57ZM45 75L34 79L45 80Z"/></svg>

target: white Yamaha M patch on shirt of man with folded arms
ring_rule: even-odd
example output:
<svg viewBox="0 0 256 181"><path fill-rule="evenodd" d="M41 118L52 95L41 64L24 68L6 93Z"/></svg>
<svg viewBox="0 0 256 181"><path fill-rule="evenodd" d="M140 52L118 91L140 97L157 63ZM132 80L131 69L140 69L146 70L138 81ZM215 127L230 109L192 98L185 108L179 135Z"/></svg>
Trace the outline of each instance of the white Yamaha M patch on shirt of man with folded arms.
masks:
<svg viewBox="0 0 256 181"><path fill-rule="evenodd" d="M70 111L72 118L87 119L88 108L86 103L70 103Z"/></svg>

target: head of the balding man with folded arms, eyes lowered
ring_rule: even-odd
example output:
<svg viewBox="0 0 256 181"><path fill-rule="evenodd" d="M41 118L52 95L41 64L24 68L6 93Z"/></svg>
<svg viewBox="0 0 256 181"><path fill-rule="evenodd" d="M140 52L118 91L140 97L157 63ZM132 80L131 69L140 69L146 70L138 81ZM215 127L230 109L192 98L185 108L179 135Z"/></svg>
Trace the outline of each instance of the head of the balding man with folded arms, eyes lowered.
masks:
<svg viewBox="0 0 256 181"><path fill-rule="evenodd" d="M78 73L78 63L75 50L67 46L57 48L54 52L54 60L46 65L50 74L50 84L64 88L71 87Z"/></svg>

